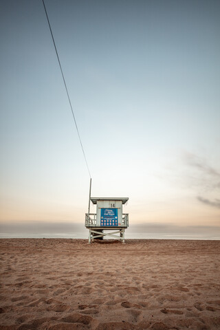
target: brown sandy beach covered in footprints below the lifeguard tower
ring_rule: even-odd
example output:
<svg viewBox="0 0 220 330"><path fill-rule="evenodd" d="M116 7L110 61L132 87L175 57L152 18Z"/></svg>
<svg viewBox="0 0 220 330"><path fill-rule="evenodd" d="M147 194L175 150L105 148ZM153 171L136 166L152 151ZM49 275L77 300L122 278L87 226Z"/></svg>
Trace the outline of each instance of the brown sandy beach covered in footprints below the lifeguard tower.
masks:
<svg viewBox="0 0 220 330"><path fill-rule="evenodd" d="M0 244L0 329L220 329L220 241Z"/></svg>

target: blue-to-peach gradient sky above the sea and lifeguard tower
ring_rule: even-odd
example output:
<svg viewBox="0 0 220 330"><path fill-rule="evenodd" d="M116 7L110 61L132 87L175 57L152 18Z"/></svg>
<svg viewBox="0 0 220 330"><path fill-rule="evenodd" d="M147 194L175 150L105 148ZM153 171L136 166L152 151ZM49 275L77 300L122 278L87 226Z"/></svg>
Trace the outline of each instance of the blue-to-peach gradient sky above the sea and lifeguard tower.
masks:
<svg viewBox="0 0 220 330"><path fill-rule="evenodd" d="M131 231L219 231L219 1L45 5L91 195L129 197ZM43 3L0 16L3 231L83 228L89 173Z"/></svg>

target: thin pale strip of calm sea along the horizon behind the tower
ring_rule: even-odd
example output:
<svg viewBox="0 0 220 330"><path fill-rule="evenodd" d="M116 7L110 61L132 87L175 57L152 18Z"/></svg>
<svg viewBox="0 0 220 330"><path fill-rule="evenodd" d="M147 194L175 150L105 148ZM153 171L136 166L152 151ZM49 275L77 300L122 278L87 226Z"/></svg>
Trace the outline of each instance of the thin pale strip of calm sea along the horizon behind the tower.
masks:
<svg viewBox="0 0 220 330"><path fill-rule="evenodd" d="M125 239L204 239L204 240L220 240L220 235L210 234L167 234L167 233L127 233L125 232ZM88 239L88 233L61 233L61 234L8 234L1 233L1 239Z"/></svg>

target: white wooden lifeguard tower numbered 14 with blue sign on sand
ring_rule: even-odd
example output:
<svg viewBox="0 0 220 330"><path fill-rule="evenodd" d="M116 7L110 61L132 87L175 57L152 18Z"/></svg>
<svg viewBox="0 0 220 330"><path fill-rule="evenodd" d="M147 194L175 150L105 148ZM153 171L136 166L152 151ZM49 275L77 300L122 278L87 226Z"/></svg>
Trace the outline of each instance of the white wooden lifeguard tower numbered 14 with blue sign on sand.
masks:
<svg viewBox="0 0 220 330"><path fill-rule="evenodd" d="M90 201L96 204L96 213L85 214L85 227L89 229L89 244L94 239L103 239L104 236L120 239L124 243L124 230L129 227L129 214L122 212L122 205L128 200L127 197L89 198L89 205Z"/></svg>

